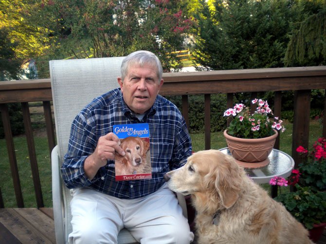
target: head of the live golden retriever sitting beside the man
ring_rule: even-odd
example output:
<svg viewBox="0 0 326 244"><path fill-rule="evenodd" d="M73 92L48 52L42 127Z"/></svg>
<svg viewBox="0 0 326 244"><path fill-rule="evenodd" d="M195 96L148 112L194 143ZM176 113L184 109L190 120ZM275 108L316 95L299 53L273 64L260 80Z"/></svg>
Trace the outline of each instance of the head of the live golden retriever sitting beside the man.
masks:
<svg viewBox="0 0 326 244"><path fill-rule="evenodd" d="M239 197L243 170L234 159L218 150L199 151L187 163L164 175L168 187L183 195L210 198L230 208Z"/></svg>

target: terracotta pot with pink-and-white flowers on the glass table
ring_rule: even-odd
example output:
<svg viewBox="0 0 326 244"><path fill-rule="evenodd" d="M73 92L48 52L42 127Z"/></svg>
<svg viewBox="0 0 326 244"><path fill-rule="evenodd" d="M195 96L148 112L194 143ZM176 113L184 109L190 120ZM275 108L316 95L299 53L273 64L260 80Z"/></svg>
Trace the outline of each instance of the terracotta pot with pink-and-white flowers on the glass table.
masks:
<svg viewBox="0 0 326 244"><path fill-rule="evenodd" d="M268 102L255 98L254 114L244 104L235 104L224 112L224 116L233 117L224 137L230 153L236 162L247 168L258 168L269 163L268 155L274 146L277 130L284 131L282 120L274 117Z"/></svg>

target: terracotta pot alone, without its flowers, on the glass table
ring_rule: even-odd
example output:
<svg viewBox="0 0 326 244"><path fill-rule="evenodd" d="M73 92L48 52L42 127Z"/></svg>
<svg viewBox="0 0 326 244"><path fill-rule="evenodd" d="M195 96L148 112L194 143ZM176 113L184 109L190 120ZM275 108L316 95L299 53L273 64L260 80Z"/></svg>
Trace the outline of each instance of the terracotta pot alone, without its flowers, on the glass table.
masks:
<svg viewBox="0 0 326 244"><path fill-rule="evenodd" d="M268 155L275 144L277 131L272 136L259 139L243 139L228 135L224 130L226 143L235 161L245 168L260 168L270 163Z"/></svg>

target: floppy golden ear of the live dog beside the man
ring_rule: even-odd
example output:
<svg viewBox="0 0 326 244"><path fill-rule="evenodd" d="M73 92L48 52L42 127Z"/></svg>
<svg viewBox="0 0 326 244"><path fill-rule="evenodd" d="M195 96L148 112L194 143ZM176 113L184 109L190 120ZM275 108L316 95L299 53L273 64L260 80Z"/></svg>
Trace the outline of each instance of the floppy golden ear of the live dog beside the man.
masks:
<svg viewBox="0 0 326 244"><path fill-rule="evenodd" d="M218 157L218 160L221 158ZM223 162L219 162L216 172L215 187L225 208L232 207L237 199L242 185L239 166L231 156L225 155Z"/></svg>

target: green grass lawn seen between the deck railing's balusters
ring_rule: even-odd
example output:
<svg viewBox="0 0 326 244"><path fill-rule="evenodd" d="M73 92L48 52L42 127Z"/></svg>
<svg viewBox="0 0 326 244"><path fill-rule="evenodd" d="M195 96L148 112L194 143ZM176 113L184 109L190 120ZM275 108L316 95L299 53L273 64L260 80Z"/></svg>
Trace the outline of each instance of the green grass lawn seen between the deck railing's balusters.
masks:
<svg viewBox="0 0 326 244"><path fill-rule="evenodd" d="M281 133L280 150L291 155L292 150L292 124L285 123L286 131ZM310 122L309 145L322 135L321 124L314 120ZM193 142L193 150L199 151L205 148L204 134L191 134ZM51 160L48 149L47 138L43 136L35 136L36 156L38 170L40 174L42 194L45 207L52 207L52 190L51 190ZM24 199L25 208L35 208L36 198L34 193L34 185L29 162L26 138L18 136L14 138L15 151L17 157L20 185ZM213 132L211 134L211 148L220 149L226 146L223 132ZM7 155L7 148L4 139L0 139L0 189L4 206L6 208L17 207L14 192L13 181ZM264 186L269 189L269 185Z"/></svg>

